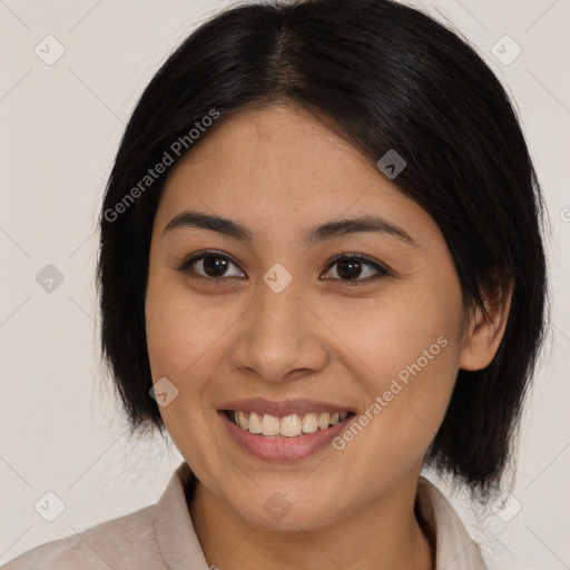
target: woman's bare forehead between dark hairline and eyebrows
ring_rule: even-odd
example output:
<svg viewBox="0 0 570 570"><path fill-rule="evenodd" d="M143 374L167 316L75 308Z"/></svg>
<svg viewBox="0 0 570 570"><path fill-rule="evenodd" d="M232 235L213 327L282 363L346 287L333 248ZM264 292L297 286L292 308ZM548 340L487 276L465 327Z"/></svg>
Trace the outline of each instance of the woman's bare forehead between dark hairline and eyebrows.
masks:
<svg viewBox="0 0 570 570"><path fill-rule="evenodd" d="M348 209L419 208L360 150L296 106L240 112L198 142L168 176L165 215L193 206L316 223Z"/></svg>

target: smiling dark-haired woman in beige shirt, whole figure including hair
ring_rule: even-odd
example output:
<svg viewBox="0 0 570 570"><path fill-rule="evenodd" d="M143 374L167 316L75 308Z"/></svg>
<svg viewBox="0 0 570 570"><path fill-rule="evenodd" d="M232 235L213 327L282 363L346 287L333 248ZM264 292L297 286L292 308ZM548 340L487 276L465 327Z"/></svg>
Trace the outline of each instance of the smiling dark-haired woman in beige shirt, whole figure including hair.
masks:
<svg viewBox="0 0 570 570"><path fill-rule="evenodd" d="M497 493L544 328L541 196L480 57L387 0L250 3L127 126L101 341L157 504L6 568L481 569L421 476Z"/></svg>

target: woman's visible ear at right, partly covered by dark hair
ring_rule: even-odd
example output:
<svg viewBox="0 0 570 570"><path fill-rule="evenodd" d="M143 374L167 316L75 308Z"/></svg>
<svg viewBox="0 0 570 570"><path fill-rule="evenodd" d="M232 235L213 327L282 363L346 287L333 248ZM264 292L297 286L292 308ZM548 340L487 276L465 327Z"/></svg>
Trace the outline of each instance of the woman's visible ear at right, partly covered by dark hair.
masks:
<svg viewBox="0 0 570 570"><path fill-rule="evenodd" d="M487 315L481 307L472 312L466 333L463 336L459 367L482 370L493 360L503 338L511 308L513 281L509 281L494 295L483 297Z"/></svg>

